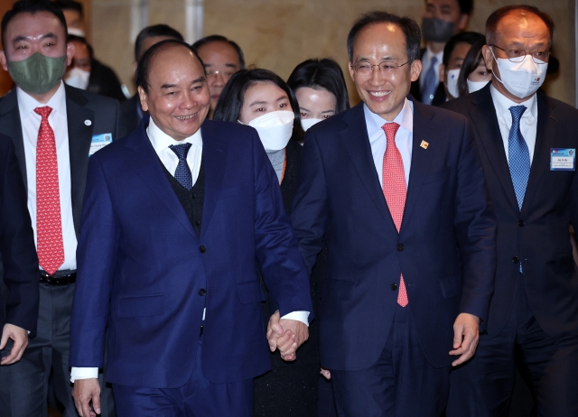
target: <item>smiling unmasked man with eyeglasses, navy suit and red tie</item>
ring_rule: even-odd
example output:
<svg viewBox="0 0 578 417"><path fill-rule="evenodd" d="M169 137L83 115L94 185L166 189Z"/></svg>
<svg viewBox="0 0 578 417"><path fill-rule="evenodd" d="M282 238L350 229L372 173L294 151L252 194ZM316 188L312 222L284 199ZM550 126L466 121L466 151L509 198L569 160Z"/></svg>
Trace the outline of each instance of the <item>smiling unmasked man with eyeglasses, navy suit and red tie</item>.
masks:
<svg viewBox="0 0 578 417"><path fill-rule="evenodd" d="M487 320L495 217L464 116L408 96L422 68L409 18L365 14L348 36L362 103L307 131L293 225L311 271L323 375L339 415L439 417L452 366Z"/></svg>

